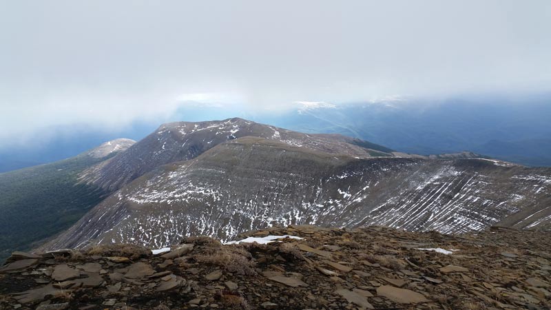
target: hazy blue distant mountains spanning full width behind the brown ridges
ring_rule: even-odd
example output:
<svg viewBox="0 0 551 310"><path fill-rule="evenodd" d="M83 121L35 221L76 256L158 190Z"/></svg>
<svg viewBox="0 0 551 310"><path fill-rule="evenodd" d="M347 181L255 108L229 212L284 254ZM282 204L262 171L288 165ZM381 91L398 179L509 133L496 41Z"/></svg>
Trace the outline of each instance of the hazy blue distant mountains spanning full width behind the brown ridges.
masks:
<svg viewBox="0 0 551 310"><path fill-rule="evenodd" d="M541 94L395 98L348 104L299 102L283 112L187 102L169 118L136 121L121 130L107 132L76 124L45 129L24 146L0 145L0 172L59 161L120 136L138 141L158 123L170 120L235 116L298 132L344 134L399 152L428 155L470 151L522 165L551 167L551 94Z"/></svg>

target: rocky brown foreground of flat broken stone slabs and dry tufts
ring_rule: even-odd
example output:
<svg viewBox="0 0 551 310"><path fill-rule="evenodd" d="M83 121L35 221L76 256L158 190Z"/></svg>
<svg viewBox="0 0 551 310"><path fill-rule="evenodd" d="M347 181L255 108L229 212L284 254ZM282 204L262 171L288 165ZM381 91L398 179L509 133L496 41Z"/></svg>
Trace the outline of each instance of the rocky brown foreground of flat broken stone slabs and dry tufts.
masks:
<svg viewBox="0 0 551 310"><path fill-rule="evenodd" d="M551 309L548 232L294 226L241 237L269 235L302 239L15 252L0 268L0 309Z"/></svg>

